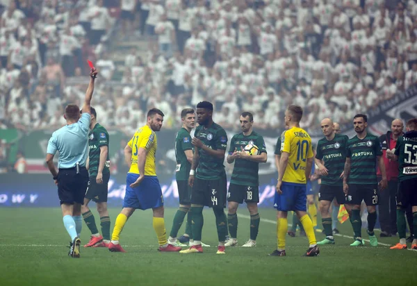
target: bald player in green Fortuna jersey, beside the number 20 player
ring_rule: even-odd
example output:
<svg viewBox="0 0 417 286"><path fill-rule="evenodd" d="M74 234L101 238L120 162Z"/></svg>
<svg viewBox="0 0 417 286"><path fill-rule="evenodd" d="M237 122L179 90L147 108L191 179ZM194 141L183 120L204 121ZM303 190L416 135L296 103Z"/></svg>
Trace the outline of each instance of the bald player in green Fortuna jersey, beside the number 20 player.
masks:
<svg viewBox="0 0 417 286"><path fill-rule="evenodd" d="M323 119L320 127L325 137L318 141L315 160L321 178L318 200L326 238L318 242L319 245L334 244L332 215L329 210L335 198L338 204L345 203L343 169L346 161L346 145L349 140L346 135L336 134L332 119Z"/></svg>

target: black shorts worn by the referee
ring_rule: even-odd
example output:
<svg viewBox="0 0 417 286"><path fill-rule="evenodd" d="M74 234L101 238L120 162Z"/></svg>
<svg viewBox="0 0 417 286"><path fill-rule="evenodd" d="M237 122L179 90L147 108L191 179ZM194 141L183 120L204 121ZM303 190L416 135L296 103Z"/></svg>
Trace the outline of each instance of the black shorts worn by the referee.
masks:
<svg viewBox="0 0 417 286"><path fill-rule="evenodd" d="M84 203L85 189L88 186L88 171L85 167L79 168L79 174L76 174L76 168L59 169L58 171L58 198L60 204Z"/></svg>

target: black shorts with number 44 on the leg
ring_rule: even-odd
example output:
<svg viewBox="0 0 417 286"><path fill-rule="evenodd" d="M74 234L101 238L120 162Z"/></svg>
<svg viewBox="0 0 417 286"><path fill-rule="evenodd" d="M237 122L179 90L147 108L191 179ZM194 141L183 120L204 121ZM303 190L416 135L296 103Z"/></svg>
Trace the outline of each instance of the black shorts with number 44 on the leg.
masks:
<svg viewBox="0 0 417 286"><path fill-rule="evenodd" d="M194 179L191 204L206 205L209 208L225 208L227 194L226 177L215 180Z"/></svg>

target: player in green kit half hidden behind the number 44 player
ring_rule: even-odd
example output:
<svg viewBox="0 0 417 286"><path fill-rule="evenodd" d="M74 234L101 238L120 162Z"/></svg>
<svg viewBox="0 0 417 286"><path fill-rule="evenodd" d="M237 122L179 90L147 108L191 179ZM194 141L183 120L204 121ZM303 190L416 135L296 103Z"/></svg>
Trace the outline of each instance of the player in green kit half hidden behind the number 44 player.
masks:
<svg viewBox="0 0 417 286"><path fill-rule="evenodd" d="M186 246L183 242L193 244L193 235L191 231L191 187L188 185L188 176L190 174L191 163L193 162L194 146L191 144L190 132L195 127L195 112L193 108L186 108L181 111L182 127L175 137L175 159L177 167L175 168L175 178L179 194L179 209L177 210L168 243L174 246ZM179 228L187 216L186 233L177 239ZM203 244L203 246L208 246Z"/></svg>

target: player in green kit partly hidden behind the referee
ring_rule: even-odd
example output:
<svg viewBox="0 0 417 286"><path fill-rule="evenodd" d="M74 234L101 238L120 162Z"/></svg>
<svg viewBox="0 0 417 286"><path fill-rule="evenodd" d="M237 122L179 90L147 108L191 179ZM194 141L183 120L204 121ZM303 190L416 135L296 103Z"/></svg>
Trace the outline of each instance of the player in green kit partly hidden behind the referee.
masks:
<svg viewBox="0 0 417 286"><path fill-rule="evenodd" d="M84 247L108 247L110 243L110 217L107 210L108 180L110 179L110 160L108 159L109 137L106 128L97 122L97 112L91 108L90 134L88 135L87 169L90 173L84 205L81 207L85 224L91 231L91 238ZM95 201L100 215L101 233L97 230L95 218L88 203Z"/></svg>

